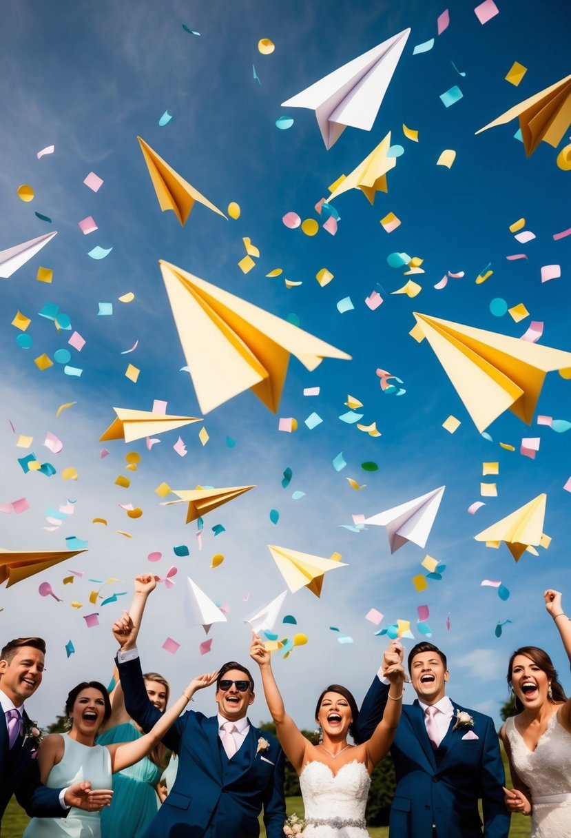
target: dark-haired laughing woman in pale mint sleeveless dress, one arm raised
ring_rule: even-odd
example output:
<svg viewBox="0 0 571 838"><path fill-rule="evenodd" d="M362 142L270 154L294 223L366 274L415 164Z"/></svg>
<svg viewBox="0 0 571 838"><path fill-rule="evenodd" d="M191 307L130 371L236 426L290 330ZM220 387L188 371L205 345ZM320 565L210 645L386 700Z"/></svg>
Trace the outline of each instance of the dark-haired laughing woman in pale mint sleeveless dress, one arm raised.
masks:
<svg viewBox="0 0 571 838"><path fill-rule="evenodd" d="M38 750L42 783L52 789L89 777L93 789L111 789L111 774L138 762L152 751L176 722L193 693L216 680L216 672L198 675L183 695L164 713L155 727L135 742L96 745L101 725L111 716L111 701L99 681L84 681L69 692L65 712L70 721L66 735L45 737ZM33 818L25 838L100 838L99 812L71 809L66 818Z"/></svg>

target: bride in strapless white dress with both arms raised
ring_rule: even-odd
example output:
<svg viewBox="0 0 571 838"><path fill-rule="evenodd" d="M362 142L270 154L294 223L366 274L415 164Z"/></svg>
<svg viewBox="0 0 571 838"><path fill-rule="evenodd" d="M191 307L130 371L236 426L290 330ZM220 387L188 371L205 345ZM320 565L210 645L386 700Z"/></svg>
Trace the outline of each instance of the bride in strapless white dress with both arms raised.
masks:
<svg viewBox="0 0 571 838"><path fill-rule="evenodd" d="M383 719L367 742L351 745L352 723L358 708L352 694L332 684L319 696L316 722L323 741L312 745L304 737L284 702L271 670L270 653L254 634L250 657L260 666L265 701L275 722L275 731L287 758L300 778L306 813L304 838L368 838L365 807L371 773L388 753L399 722L404 690L403 650L393 642L385 652L383 675L390 681Z"/></svg>

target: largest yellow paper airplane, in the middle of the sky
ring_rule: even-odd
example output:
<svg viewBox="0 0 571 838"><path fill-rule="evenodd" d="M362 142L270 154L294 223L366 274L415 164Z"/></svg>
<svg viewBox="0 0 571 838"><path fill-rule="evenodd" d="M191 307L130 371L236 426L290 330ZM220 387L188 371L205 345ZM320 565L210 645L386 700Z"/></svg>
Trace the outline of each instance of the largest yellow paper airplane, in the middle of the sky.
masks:
<svg viewBox="0 0 571 838"><path fill-rule="evenodd" d="M290 354L315 370L340 349L176 265L160 261L172 315L203 413L251 390L277 411Z"/></svg>

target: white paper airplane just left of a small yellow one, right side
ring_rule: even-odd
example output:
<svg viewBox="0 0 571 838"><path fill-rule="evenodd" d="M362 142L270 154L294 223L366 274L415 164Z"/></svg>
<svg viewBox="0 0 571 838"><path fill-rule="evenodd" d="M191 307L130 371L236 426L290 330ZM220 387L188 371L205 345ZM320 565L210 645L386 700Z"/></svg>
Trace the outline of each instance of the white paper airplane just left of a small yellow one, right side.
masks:
<svg viewBox="0 0 571 838"><path fill-rule="evenodd" d="M407 541L414 541L419 547L425 547L445 488L440 486L440 489L434 489L405 504L394 506L392 510L365 518L364 523L386 526L391 553L399 550Z"/></svg>

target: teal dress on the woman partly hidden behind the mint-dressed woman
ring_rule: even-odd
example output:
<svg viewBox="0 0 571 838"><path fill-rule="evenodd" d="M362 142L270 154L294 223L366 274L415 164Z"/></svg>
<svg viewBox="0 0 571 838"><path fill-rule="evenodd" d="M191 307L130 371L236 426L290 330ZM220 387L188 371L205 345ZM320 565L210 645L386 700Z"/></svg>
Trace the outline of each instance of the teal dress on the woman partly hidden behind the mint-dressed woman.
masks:
<svg viewBox="0 0 571 838"><path fill-rule="evenodd" d="M97 737L99 745L133 742L142 734L133 722L125 722ZM101 812L101 834L105 838L136 838L157 815L159 799L153 788L161 779L162 768L148 757L113 774L111 806Z"/></svg>

